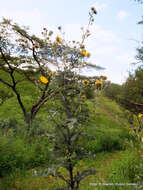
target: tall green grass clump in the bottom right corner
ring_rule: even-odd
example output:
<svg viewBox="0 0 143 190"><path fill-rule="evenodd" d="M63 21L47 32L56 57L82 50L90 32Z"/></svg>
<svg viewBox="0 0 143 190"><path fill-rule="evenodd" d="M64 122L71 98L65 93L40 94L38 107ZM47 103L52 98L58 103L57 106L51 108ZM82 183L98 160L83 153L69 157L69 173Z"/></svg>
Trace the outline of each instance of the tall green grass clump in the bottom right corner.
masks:
<svg viewBox="0 0 143 190"><path fill-rule="evenodd" d="M111 163L111 171L106 178L106 184L109 186L100 186L100 190L135 190L138 186L129 185L136 184L136 175L138 173L137 163L140 157L135 150L126 150L118 155ZM114 185L115 184L115 185ZM116 185L118 184L118 185ZM119 185L120 184L120 185ZM122 184L122 185L121 185Z"/></svg>

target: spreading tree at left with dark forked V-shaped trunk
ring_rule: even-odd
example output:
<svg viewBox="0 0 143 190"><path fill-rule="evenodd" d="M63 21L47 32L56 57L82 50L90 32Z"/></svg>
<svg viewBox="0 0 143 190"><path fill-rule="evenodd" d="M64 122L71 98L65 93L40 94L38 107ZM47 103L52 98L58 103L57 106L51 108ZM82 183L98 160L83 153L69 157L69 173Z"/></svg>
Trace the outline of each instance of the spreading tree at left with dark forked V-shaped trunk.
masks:
<svg viewBox="0 0 143 190"><path fill-rule="evenodd" d="M52 47L48 47L49 57L43 58L41 50L44 45L43 39L30 35L26 28L21 28L10 20L3 19L0 23L0 82L11 88L15 94L28 128L51 94L49 83L52 77L49 73L47 74L49 82L43 88L37 84L38 74L45 75L44 69L49 70L48 66L44 67L46 61L50 63L53 61L52 58L49 58L53 57ZM6 77L4 77L5 75ZM38 86L40 90L40 97L37 98L30 110L26 109L18 88L23 81Z"/></svg>

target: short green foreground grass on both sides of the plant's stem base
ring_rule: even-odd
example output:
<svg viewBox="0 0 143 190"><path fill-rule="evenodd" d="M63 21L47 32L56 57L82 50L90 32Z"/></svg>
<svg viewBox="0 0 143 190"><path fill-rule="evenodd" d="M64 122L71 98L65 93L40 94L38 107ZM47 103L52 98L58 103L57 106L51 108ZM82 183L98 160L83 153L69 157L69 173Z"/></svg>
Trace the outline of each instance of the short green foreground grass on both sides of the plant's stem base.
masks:
<svg viewBox="0 0 143 190"><path fill-rule="evenodd" d="M132 176L135 175L134 166L137 161L137 154L133 150L116 151L112 153L102 152L97 154L95 160L84 159L78 168L81 168L81 170L95 168L97 170L97 174L85 178L80 185L80 190L106 190L107 188L94 188L94 186L91 186L90 183L133 183ZM64 184L61 180L55 179L51 176L31 177L30 171L26 173L26 175L13 175L6 179L7 184L5 185L11 185L10 190L53 190L55 187L57 188ZM116 187L117 190L125 190L126 188L127 187ZM109 189L115 189L115 187L110 186Z"/></svg>

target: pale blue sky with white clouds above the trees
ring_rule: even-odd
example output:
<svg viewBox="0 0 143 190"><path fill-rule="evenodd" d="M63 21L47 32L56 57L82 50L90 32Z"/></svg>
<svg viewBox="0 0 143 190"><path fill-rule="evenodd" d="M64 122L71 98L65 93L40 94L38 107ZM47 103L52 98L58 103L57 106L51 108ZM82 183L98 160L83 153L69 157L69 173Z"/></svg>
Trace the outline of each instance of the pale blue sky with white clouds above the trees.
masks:
<svg viewBox="0 0 143 190"><path fill-rule="evenodd" d="M88 76L106 75L114 83L122 84L129 71L135 69L136 48L143 40L141 20L143 5L134 0L0 0L0 20L10 18L21 26L30 26L40 35L43 27L57 32L62 26L67 40L81 40L81 27L88 23L88 12L95 7L98 14L90 28L86 49L89 62L104 67L96 71L86 69Z"/></svg>

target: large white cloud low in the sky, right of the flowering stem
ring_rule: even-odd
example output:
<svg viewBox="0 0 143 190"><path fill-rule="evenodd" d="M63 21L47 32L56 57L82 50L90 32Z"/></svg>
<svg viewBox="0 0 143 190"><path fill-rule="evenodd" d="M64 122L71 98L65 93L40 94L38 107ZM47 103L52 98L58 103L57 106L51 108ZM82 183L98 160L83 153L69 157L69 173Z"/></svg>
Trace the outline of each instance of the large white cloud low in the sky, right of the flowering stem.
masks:
<svg viewBox="0 0 143 190"><path fill-rule="evenodd" d="M49 26L50 28L50 26ZM81 25L67 24L63 26L65 38L68 40L81 41ZM133 62L134 53L126 51L121 47L125 43L112 30L103 28L100 25L91 27L91 37L87 39L85 45L91 58L88 60L92 64L106 68L105 70L85 69L82 74L106 75L114 83L122 83L128 76L130 63Z"/></svg>

